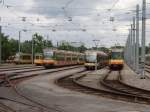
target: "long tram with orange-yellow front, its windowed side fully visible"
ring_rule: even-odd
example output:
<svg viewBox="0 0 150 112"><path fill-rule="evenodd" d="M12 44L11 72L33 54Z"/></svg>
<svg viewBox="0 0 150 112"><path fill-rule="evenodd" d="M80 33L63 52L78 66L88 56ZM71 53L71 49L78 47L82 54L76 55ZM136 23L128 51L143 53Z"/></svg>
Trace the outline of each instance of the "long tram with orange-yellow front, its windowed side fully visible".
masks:
<svg viewBox="0 0 150 112"><path fill-rule="evenodd" d="M57 49L44 49L43 66L45 68L69 66L84 63L84 54Z"/></svg>

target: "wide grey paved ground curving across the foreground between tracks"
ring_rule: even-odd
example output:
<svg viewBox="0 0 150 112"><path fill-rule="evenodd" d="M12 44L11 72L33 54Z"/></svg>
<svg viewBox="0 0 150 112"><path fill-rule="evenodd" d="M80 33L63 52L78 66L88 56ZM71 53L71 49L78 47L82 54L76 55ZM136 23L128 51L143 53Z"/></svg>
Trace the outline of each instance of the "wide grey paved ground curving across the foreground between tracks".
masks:
<svg viewBox="0 0 150 112"><path fill-rule="evenodd" d="M99 70L96 73L102 75L101 72L105 71ZM86 95L54 84L55 79L67 74L63 72L36 77L21 83L19 90L36 101L64 112L150 112L149 105Z"/></svg>

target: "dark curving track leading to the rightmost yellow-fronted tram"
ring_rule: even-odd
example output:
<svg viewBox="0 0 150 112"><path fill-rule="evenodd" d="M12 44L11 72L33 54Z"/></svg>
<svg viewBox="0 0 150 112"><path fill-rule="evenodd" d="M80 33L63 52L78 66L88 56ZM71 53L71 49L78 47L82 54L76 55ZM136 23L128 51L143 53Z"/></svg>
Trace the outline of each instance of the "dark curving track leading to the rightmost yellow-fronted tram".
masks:
<svg viewBox="0 0 150 112"><path fill-rule="evenodd" d="M107 77L111 75L109 72L100 83L110 90L113 90L115 94L118 94L118 97L125 98L127 101L136 102L136 103L150 103L150 91L136 88L130 85L125 84L121 80L121 72L118 72L116 79L107 80Z"/></svg>

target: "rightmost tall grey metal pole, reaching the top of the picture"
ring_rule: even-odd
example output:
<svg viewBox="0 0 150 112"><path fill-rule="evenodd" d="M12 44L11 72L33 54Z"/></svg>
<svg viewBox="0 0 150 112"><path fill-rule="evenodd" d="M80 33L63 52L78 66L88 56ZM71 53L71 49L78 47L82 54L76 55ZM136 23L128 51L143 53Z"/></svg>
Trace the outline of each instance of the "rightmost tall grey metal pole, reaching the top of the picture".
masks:
<svg viewBox="0 0 150 112"><path fill-rule="evenodd" d="M146 29L146 0L142 6L142 55L141 55L141 78L145 78L145 29Z"/></svg>

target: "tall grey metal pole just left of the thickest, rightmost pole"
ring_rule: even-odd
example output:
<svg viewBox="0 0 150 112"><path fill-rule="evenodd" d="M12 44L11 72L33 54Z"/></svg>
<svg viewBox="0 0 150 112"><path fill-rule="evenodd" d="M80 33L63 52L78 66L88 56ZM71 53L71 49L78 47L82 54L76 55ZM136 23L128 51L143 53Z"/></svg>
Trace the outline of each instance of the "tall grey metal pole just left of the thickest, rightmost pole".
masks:
<svg viewBox="0 0 150 112"><path fill-rule="evenodd" d="M139 73L139 5L136 6L136 72Z"/></svg>

